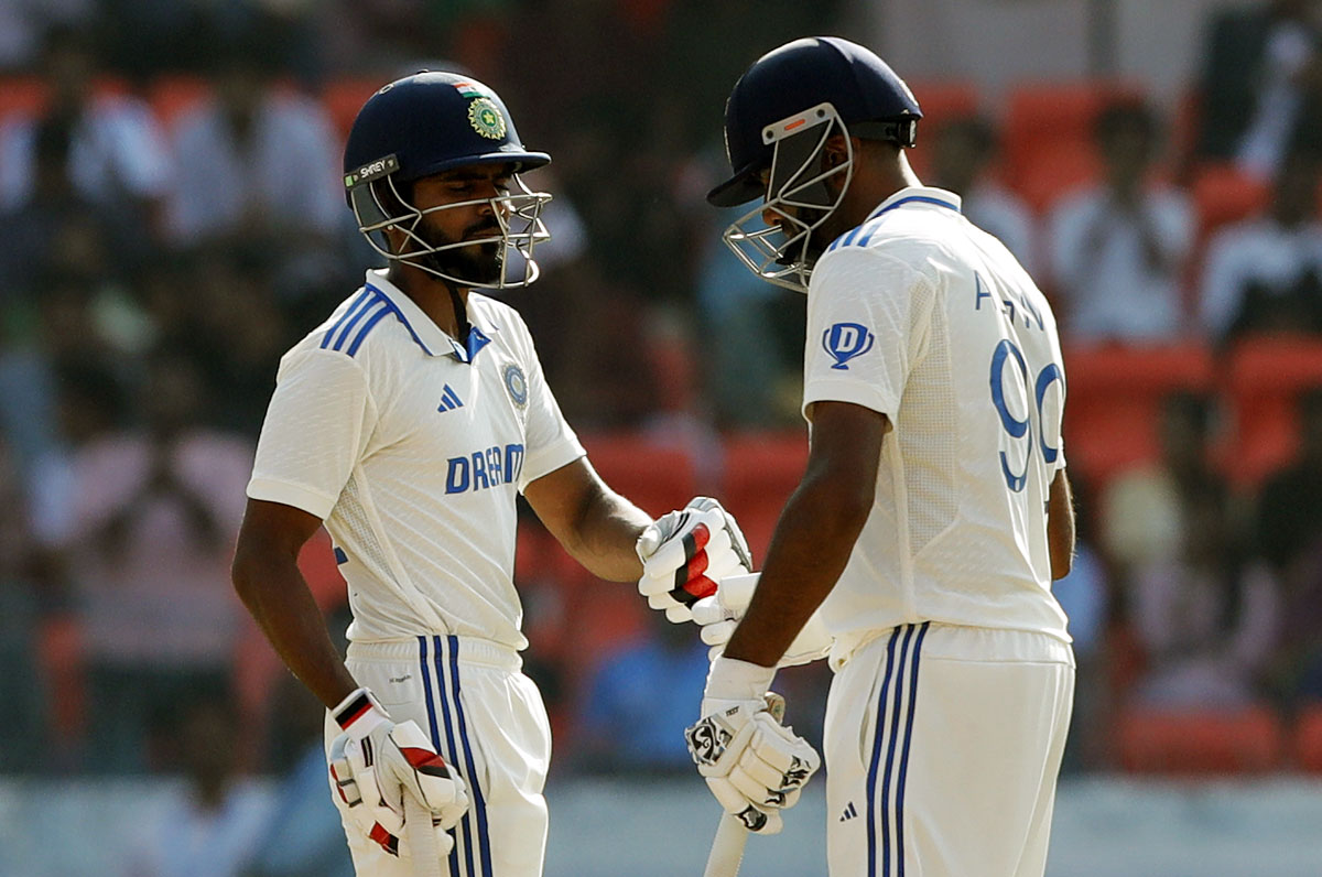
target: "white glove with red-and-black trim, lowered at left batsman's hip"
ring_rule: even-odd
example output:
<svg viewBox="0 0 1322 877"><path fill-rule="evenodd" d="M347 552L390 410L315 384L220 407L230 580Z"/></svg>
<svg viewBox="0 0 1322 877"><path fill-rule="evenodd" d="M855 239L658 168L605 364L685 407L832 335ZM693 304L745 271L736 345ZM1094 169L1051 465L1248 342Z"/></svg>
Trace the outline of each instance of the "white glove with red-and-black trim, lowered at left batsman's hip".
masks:
<svg viewBox="0 0 1322 877"><path fill-rule="evenodd" d="M438 849L448 856L449 829L468 810L463 778L436 754L416 722L398 725L366 688L332 712L344 733L330 743L330 778L349 815L369 839L399 855L405 825L403 796L431 811Z"/></svg>

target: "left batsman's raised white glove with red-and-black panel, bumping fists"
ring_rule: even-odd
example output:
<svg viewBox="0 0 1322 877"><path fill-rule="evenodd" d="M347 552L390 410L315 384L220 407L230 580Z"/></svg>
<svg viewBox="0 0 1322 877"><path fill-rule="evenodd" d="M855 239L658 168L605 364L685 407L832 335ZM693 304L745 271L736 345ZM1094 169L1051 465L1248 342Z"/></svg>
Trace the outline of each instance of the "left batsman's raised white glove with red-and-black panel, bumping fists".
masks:
<svg viewBox="0 0 1322 877"><path fill-rule="evenodd" d="M654 520L635 545L642 561L639 593L648 606L682 623L691 606L718 590L718 582L752 570L748 541L735 519L709 496Z"/></svg>

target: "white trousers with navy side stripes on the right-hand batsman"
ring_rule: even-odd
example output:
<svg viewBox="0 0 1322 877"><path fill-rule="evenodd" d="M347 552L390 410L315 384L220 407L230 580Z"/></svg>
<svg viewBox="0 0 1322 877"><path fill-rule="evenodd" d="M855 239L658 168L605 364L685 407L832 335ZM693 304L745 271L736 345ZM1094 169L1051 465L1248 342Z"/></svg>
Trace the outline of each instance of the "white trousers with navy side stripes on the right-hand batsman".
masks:
<svg viewBox="0 0 1322 877"><path fill-rule="evenodd" d="M903 624L826 702L830 877L1042 877L1073 651L1029 631Z"/></svg>

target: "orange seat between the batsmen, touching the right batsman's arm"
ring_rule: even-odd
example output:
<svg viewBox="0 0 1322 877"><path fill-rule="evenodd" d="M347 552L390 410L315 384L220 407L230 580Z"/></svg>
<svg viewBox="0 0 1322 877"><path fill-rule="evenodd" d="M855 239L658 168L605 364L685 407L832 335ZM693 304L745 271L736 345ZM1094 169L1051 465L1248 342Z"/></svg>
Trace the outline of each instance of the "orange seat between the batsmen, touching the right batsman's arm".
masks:
<svg viewBox="0 0 1322 877"><path fill-rule="evenodd" d="M754 566L761 566L780 509L804 476L808 437L801 430L731 434L724 446L722 501L748 538Z"/></svg>

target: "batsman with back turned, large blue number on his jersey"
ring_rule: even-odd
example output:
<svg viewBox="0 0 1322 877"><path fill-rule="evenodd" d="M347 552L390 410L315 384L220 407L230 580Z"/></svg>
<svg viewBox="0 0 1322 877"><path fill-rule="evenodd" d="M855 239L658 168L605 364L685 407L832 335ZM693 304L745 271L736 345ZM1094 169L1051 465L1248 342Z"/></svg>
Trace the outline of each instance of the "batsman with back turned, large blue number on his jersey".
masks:
<svg viewBox="0 0 1322 877"><path fill-rule="evenodd" d="M921 118L834 37L730 94L709 200L760 200L724 239L808 295L812 447L751 603L695 610L724 649L690 743L727 811L781 806L742 799L703 741L724 722L736 746L777 665L829 656L832 877L1040 876L1073 696L1051 594L1073 550L1066 374L1032 279L910 168Z"/></svg>

